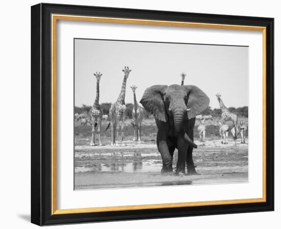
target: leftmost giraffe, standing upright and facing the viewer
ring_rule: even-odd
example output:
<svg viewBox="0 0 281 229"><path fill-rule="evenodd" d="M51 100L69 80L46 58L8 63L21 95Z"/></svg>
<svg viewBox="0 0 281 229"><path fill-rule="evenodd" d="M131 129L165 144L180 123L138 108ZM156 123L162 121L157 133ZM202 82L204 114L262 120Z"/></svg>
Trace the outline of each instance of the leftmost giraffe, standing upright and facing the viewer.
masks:
<svg viewBox="0 0 281 229"><path fill-rule="evenodd" d="M96 128L98 126L98 135L100 140L100 146L102 146L101 140L101 127L102 127L102 110L100 108L99 99L100 99L100 79L103 74L95 73L93 74L97 78L97 92L96 92L96 100L93 103L90 109L90 116L91 116L91 125L92 125L92 136L90 146L96 145Z"/></svg>

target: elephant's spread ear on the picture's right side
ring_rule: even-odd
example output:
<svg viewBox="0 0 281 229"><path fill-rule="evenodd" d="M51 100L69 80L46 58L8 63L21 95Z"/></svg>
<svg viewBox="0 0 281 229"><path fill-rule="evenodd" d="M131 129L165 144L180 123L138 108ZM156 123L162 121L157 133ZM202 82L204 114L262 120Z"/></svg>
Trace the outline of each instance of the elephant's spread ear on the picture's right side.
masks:
<svg viewBox="0 0 281 229"><path fill-rule="evenodd" d="M183 87L188 93L188 104L186 106L191 108L191 110L188 111L188 117L192 119L208 107L210 99L204 91L197 86L186 85Z"/></svg>

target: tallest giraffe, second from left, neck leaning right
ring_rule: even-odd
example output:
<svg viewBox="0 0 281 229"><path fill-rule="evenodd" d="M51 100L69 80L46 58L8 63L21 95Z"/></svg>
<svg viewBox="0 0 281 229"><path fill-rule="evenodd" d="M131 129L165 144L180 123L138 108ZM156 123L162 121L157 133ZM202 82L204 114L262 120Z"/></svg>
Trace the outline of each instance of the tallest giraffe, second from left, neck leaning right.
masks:
<svg viewBox="0 0 281 229"><path fill-rule="evenodd" d="M115 103L113 103L109 109L109 116L110 116L110 123L111 125L111 146L113 145L118 145L116 143L116 140L118 140L118 135L119 135L119 122L121 121L121 142L122 146L124 146L123 143L123 128L124 128L124 121L125 121L125 110L126 110L126 105L125 105L125 93L126 93L126 82L127 78L129 77L129 74L132 70L129 69L129 67L125 66L125 69L122 70L124 72L124 79L121 87L121 92L120 95ZM109 127L108 125L108 127ZM108 128L107 127L107 128ZM115 132L116 132L116 139L115 139Z"/></svg>

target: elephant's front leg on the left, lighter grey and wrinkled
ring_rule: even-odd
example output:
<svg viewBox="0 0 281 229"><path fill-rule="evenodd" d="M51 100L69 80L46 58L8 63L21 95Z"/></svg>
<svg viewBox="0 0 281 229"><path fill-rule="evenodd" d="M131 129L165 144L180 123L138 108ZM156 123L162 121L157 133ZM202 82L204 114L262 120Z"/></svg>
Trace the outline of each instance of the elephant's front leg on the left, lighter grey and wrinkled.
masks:
<svg viewBox="0 0 281 229"><path fill-rule="evenodd" d="M162 158L161 174L173 173L173 159L170 154L167 141L160 138L159 132L157 133L157 147Z"/></svg>

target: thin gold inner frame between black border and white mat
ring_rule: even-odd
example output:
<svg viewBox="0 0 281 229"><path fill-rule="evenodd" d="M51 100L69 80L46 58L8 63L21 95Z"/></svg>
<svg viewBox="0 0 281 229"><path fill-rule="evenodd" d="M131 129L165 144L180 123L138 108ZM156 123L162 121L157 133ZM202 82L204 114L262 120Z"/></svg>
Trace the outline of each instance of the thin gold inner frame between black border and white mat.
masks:
<svg viewBox="0 0 281 229"><path fill-rule="evenodd" d="M56 26L57 26L57 20L95 21L95 22L109 22L109 23L123 23L123 24L262 31L263 32L263 197L252 198L252 199L235 199L235 200L126 205L126 206L117 206L117 207L57 209L56 208L57 206L57 198L56 198L56 193L57 193L57 189L56 189L56 182L57 182L56 179L56 89L57 89L56 87L56 79L57 79ZM51 203L52 215L266 202L266 27L52 14L52 174L51 176L52 176L52 181L51 181L52 182L52 203Z"/></svg>

